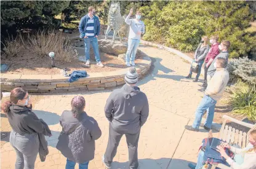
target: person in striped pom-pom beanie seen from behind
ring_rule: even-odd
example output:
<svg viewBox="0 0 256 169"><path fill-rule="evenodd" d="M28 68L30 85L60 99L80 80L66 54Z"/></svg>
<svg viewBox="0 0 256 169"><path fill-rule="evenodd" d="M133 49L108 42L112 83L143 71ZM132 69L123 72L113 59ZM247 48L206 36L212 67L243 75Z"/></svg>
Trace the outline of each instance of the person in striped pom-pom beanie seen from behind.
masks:
<svg viewBox="0 0 256 169"><path fill-rule="evenodd" d="M140 128L148 118L148 99L145 93L135 86L138 74L134 67L129 69L124 80L126 84L114 90L106 101L105 115L110 122L108 146L102 156L106 168L111 168L122 135L126 135L129 167L138 168L138 138Z"/></svg>

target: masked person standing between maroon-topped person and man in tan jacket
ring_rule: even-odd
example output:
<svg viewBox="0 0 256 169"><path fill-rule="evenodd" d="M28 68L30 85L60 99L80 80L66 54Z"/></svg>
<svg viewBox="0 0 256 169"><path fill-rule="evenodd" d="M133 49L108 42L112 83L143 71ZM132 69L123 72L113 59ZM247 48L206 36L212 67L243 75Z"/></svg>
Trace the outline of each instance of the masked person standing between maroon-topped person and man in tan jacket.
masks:
<svg viewBox="0 0 256 169"><path fill-rule="evenodd" d="M214 73L216 71L216 60L217 58L224 58L226 60L226 63L228 63L228 57L230 56L230 53L228 53L228 49L230 48L230 41L222 41L220 45L218 45L218 49L220 49L222 52L220 52L217 57L212 61L212 65L209 66L207 70L207 81L210 81L212 76L214 76ZM227 65L225 65L226 68Z"/></svg>

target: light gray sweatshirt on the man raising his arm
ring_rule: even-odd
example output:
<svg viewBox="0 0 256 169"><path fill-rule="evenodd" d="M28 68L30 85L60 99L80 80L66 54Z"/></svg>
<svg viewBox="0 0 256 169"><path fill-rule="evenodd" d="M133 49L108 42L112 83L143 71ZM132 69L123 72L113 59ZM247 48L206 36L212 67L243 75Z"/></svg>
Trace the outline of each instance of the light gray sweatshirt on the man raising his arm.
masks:
<svg viewBox="0 0 256 169"><path fill-rule="evenodd" d="M139 31L142 32L142 34L145 34L145 25L144 22L137 19L129 19L130 15L126 17L125 22L130 25L130 31L129 31L129 39L138 39L140 40L141 34L137 34Z"/></svg>

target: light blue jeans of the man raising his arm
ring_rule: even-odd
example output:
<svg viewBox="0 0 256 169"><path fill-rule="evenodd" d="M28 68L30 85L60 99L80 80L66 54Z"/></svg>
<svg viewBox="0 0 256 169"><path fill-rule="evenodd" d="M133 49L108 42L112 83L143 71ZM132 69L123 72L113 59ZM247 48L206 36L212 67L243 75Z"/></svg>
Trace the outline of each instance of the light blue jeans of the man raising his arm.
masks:
<svg viewBox="0 0 256 169"><path fill-rule="evenodd" d="M135 60L135 55L138 49L138 45L140 45L140 39L128 39L128 48L126 52L126 62L130 62Z"/></svg>

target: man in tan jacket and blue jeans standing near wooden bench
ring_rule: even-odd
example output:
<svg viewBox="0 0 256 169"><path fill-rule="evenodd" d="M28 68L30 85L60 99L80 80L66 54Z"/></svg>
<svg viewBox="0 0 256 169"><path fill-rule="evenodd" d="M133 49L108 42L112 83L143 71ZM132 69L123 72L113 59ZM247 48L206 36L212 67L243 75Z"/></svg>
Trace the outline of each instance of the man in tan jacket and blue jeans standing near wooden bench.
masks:
<svg viewBox="0 0 256 169"><path fill-rule="evenodd" d="M207 111L207 118L206 123L204 124L204 129L210 130L212 121L214 120L215 104L222 97L226 84L228 84L229 80L228 71L225 69L226 64L227 61L225 58L217 58L217 61L214 63L216 72L214 76L212 76L212 79L210 79L205 95L196 109L196 118L194 119L193 125L186 125L186 130L198 132L199 125L201 124L202 116L205 111Z"/></svg>

